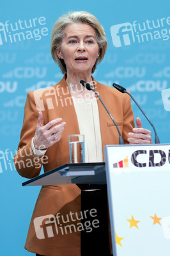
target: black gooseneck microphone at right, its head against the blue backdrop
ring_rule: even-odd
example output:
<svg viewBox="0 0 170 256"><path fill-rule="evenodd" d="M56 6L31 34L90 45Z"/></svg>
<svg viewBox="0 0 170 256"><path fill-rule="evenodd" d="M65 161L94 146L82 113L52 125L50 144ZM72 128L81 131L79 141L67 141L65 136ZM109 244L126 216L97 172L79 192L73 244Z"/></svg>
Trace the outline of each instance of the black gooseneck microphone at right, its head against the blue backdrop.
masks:
<svg viewBox="0 0 170 256"><path fill-rule="evenodd" d="M153 127L153 131L155 132L155 144L160 144L160 140L159 140L159 138L158 138L158 136L157 136L157 132L156 132L156 130L155 130L154 125L151 123L150 119L148 118L148 116L146 116L146 114L144 113L143 109L141 109L141 107L140 107L139 104L136 102L136 100L134 99L134 97L133 97L130 93L128 93L127 90L126 90L124 87L120 86L119 84L113 83L112 86L114 86L114 88L116 88L118 91L120 91L120 92L122 92L122 93L127 93L127 94L132 98L132 100L134 100L134 102L135 102L135 104L137 105L137 107L141 110L141 112L142 112L143 115L146 117L146 119L148 120L148 122L150 123L150 125Z"/></svg>

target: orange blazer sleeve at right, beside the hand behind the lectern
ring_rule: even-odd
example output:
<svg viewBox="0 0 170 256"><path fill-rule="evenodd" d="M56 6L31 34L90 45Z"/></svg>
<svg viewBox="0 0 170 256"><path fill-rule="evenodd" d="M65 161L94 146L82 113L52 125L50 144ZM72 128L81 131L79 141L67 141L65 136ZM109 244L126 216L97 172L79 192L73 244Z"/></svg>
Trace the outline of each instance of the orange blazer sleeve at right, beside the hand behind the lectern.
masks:
<svg viewBox="0 0 170 256"><path fill-rule="evenodd" d="M123 106L123 140L128 144L128 132L132 132L135 127L134 113L130 102L130 97L125 94L125 102Z"/></svg>

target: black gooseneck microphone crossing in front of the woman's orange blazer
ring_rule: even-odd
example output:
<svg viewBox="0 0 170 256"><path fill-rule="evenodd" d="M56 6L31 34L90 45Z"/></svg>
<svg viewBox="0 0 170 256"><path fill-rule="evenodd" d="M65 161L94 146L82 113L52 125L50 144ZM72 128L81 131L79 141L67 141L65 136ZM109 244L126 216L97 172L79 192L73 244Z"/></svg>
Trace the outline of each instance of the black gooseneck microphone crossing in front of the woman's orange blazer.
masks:
<svg viewBox="0 0 170 256"><path fill-rule="evenodd" d="M93 91L93 92L97 95L98 99L100 100L100 102L101 102L102 105L104 106L105 110L106 110L107 113L109 114L109 116L110 116L112 122L114 122L114 125L116 126L116 129L117 129L118 134L119 134L119 136L120 136L120 138L119 138L119 143L120 143L120 145L125 144L124 141L123 141L123 138L122 138L122 136L121 136L121 134L120 134L120 129L118 128L118 125L116 124L116 122L115 122L114 119L112 118L111 113L110 113L109 110L106 108L106 106L105 106L103 100L100 98L99 94L93 89L93 87L92 87L89 83L85 82L84 80L81 80L80 83L81 83L82 86L84 86L87 90Z"/></svg>

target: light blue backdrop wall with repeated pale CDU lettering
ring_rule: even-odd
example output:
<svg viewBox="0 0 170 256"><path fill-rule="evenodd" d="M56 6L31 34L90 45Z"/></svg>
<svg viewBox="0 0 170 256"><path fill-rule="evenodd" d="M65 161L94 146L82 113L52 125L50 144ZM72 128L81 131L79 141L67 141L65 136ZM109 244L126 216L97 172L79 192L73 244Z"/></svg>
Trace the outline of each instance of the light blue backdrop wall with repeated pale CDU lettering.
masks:
<svg viewBox="0 0 170 256"><path fill-rule="evenodd" d="M50 34L58 17L70 10L91 12L104 26L108 49L95 79L108 86L119 83L130 90L155 124L161 143L170 142L169 0L3 1L0 7L0 254L3 256L31 255L24 250L24 243L40 188L22 188L21 183L26 179L16 172L13 156L20 140L27 92L56 84L62 77L50 56ZM163 90L166 90L164 104ZM135 117L140 116L143 126L151 129L137 107L133 103L132 106Z"/></svg>

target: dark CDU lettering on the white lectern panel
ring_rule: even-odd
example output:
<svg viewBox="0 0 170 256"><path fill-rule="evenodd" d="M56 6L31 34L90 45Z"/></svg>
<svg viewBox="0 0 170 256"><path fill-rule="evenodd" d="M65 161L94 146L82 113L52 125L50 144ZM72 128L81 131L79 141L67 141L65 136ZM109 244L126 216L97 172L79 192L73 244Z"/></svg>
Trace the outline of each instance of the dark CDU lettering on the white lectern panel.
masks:
<svg viewBox="0 0 170 256"><path fill-rule="evenodd" d="M163 166L167 159L170 163L170 150L168 156L163 150L136 150L131 156L132 164L140 168Z"/></svg>

